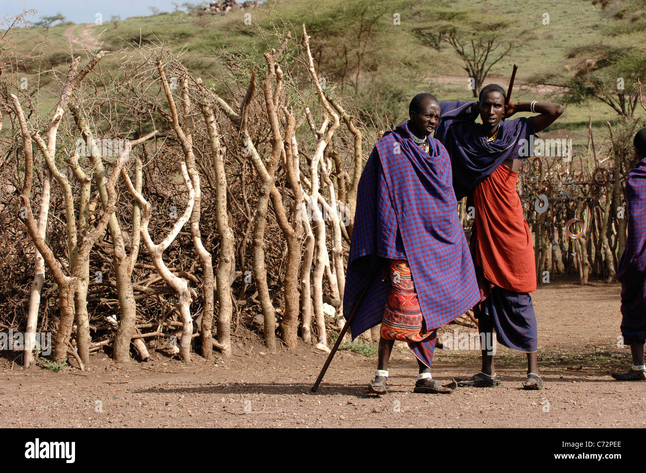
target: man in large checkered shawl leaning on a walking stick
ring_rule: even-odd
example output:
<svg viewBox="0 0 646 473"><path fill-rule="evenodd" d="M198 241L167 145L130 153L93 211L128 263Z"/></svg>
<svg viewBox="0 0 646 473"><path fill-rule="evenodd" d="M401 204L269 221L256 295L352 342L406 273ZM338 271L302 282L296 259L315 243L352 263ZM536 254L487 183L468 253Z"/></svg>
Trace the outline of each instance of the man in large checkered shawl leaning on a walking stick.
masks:
<svg viewBox="0 0 646 473"><path fill-rule="evenodd" d="M415 392L450 393L432 379L437 328L478 300L474 266L457 216L451 161L429 135L439 121L431 94L415 96L410 120L377 141L359 181L343 307L354 339L381 326L379 364L369 390L386 392L395 339L419 365ZM364 297L359 295L366 288Z"/></svg>

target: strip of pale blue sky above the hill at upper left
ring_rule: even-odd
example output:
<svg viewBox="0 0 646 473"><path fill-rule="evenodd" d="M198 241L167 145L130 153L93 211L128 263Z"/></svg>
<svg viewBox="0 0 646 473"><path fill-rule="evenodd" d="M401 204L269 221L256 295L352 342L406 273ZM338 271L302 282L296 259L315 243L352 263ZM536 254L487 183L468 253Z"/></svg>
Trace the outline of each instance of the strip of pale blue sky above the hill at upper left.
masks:
<svg viewBox="0 0 646 473"><path fill-rule="evenodd" d="M175 0L175 3L182 5L185 1ZM200 0L189 2L203 3ZM103 16L103 21L110 21L112 15L120 15L121 19L149 16L149 6L159 8L161 12L172 12L175 9L172 0L0 0L0 21L3 17L19 14L23 8L36 8L35 15L28 15L31 23L36 23L43 16L56 15L57 12L61 12L67 21L94 23L98 13Z"/></svg>

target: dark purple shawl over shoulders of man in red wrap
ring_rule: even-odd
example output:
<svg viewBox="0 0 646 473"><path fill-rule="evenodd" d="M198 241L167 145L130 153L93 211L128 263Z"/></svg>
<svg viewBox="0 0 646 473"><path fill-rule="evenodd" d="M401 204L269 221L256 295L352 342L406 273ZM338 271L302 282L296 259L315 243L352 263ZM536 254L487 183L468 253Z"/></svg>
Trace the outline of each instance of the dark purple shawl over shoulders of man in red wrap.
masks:
<svg viewBox="0 0 646 473"><path fill-rule="evenodd" d="M523 159L534 155L534 117L500 122L492 143L486 141L482 125L466 110L475 102L440 103L440 123L435 138L446 147L453 167L455 197L470 196L485 177L505 159ZM522 140L526 141L522 141Z"/></svg>

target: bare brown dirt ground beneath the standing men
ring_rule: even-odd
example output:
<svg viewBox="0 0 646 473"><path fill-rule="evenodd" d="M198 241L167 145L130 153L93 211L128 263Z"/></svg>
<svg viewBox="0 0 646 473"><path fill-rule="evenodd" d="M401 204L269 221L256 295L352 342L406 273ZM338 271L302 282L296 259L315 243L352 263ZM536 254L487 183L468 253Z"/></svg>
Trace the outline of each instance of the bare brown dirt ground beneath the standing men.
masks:
<svg viewBox="0 0 646 473"><path fill-rule="evenodd" d="M395 350L390 392L366 395L376 356L337 353L317 394L309 388L327 354L302 345L264 352L258 339L236 342L231 359L185 365L161 352L116 367L93 355L90 370L51 372L14 366L0 372L2 427L643 427L646 383L620 383L629 364L618 348L620 286L550 284L534 294L539 367L546 386L520 388L523 354L498 346L495 388L450 395L413 394L417 363ZM453 326L457 327L457 326ZM452 327L452 328L453 328ZM466 330L459 328L459 330ZM479 370L475 350L437 350L433 377ZM1 379L1 377L0 377Z"/></svg>

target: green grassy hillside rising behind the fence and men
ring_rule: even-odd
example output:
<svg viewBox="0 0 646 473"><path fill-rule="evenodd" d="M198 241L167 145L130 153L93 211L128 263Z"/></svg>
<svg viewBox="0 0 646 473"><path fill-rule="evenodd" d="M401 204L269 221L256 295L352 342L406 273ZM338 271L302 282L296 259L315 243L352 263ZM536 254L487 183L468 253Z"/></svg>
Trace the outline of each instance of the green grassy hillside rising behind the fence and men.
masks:
<svg viewBox="0 0 646 473"><path fill-rule="evenodd" d="M52 74L39 74L48 68L65 71L70 46L74 54L84 53L83 44L90 48L110 50L112 54L101 61L102 70L118 70L120 50L136 49L138 45L165 43L194 75L218 76L218 68L209 57L220 48L234 54L253 52L262 61L267 46L259 28L271 31L275 25L293 25L300 33L305 23L311 35L313 49L320 54L320 74L339 84L339 91L351 97L364 110L379 107L397 121L406 117L408 100L422 91L430 91L440 99L470 99L467 75L461 59L453 48L444 43L439 50L422 45L415 30L432 30L437 23L437 8L463 10L478 17L487 15L510 23L505 35L511 41L526 41L495 64L485 83L499 82L506 86L512 65L519 65L514 100L552 100L559 89L527 86L532 77L546 74L571 77L576 69L567 54L581 45L611 45L629 47L646 44L646 32L630 32L610 36L605 28L616 19L612 8L601 9L590 0L540 0L531 3L517 0L474 1L365 1L330 0L311 3L308 0L278 0L267 2L253 10L238 10L226 15L202 15L175 12L149 17L131 17L114 24L60 25L23 29L19 35L18 54L36 47L42 61L30 64L25 72L30 83L39 80L39 98L44 110L52 106L50 96L57 90ZM64 12L63 12L64 14ZM545 14L549 24L544 25ZM247 16L245 16L247 15ZM393 18L399 15L400 24ZM251 18L251 25L249 23ZM98 45L94 45L94 41ZM362 54L361 65L357 63ZM576 65L575 65L576 66ZM359 70L357 72L357 70ZM49 91L49 93L47 92ZM565 114L551 130L571 132L577 143L587 143L590 117L598 132L603 133L606 120L614 121L617 114L599 101L568 105Z"/></svg>

